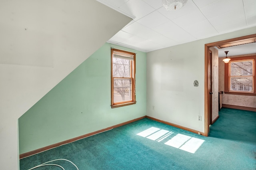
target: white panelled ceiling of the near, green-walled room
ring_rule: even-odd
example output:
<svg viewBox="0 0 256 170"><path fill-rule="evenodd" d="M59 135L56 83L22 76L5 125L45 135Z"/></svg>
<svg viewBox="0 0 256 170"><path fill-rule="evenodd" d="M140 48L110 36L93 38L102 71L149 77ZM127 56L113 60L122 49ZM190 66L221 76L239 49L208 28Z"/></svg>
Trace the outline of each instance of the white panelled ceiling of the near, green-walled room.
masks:
<svg viewBox="0 0 256 170"><path fill-rule="evenodd" d="M175 11L162 0L97 1L133 18L108 42L144 52L256 26L256 0L188 0Z"/></svg>

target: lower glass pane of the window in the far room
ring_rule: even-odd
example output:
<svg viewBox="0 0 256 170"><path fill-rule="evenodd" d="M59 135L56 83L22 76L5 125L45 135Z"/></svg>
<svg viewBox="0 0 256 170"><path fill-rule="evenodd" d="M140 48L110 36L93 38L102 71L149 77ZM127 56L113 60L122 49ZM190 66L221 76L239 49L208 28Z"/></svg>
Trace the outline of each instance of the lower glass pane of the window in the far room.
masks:
<svg viewBox="0 0 256 170"><path fill-rule="evenodd" d="M252 77L230 78L230 90L252 91Z"/></svg>

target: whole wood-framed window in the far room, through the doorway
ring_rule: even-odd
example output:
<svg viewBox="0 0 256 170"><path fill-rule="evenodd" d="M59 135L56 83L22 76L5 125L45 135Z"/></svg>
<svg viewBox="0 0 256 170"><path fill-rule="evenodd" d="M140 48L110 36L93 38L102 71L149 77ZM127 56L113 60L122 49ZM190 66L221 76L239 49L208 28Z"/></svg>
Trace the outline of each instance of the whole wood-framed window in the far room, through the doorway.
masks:
<svg viewBox="0 0 256 170"><path fill-rule="evenodd" d="M256 55L234 57L225 64L225 93L256 95L255 60Z"/></svg>

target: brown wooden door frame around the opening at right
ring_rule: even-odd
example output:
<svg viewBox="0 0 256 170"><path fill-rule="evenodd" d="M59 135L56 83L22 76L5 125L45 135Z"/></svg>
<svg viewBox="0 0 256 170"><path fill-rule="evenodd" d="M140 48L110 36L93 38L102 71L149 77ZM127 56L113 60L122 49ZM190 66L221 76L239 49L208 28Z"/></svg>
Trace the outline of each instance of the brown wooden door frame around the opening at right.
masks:
<svg viewBox="0 0 256 170"><path fill-rule="evenodd" d="M242 36L238 38L232 38L228 40L223 40L219 42L212 42L212 43L207 43L204 45L204 136L208 136L210 129L209 129L209 113L208 109L210 107L210 103L208 101L209 99L209 85L208 85L208 53L210 50L210 47L215 47L218 45L224 45L228 43L233 43L236 41L242 41L248 38L255 38L256 39L256 34L248 35L248 36Z"/></svg>

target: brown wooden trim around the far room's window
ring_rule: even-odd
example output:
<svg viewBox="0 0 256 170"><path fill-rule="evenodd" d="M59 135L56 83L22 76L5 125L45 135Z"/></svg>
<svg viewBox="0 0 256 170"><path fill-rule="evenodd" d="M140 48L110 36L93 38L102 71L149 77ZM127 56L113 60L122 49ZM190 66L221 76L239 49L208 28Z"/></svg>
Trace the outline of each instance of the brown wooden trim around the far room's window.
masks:
<svg viewBox="0 0 256 170"><path fill-rule="evenodd" d="M230 61L238 61L238 60L248 60L248 59L254 59L254 71L253 71L253 76L254 76L254 82L252 82L252 86L254 89L254 92L244 92L244 91L230 91L230 77L229 77L229 63L225 63L225 68L224 68L224 92L226 94L230 95L249 95L249 96L256 96L256 67L255 67L255 62L256 62L256 55L250 55L250 56L245 56L245 57L230 57Z"/></svg>

